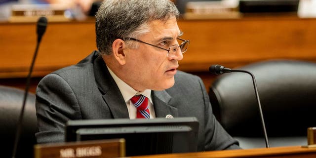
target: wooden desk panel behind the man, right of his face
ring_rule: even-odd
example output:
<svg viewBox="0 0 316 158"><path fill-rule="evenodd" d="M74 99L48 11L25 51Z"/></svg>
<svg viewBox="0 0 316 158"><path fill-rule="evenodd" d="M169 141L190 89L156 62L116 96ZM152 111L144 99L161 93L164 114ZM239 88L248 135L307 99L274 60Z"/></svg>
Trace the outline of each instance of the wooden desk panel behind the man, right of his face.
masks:
<svg viewBox="0 0 316 158"><path fill-rule="evenodd" d="M180 69L207 71L275 58L316 61L316 19L245 18L179 21L191 43Z"/></svg>

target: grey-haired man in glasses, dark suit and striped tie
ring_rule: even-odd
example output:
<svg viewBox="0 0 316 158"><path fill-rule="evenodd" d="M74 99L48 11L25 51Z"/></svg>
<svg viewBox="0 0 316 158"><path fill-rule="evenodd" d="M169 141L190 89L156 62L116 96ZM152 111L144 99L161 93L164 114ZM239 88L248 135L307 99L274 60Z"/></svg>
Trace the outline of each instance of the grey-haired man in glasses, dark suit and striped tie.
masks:
<svg viewBox="0 0 316 158"><path fill-rule="evenodd" d="M64 141L69 119L171 115L198 119L198 151L239 149L213 116L202 80L177 71L190 42L180 39L178 16L169 0L105 0L96 15L99 51L38 85L38 143Z"/></svg>

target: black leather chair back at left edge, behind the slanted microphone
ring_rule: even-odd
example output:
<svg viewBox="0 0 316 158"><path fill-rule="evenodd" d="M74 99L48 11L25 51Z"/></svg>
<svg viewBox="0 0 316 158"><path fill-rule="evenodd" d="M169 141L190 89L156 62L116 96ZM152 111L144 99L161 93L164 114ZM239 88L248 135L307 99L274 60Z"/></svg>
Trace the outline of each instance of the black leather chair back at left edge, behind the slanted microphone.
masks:
<svg viewBox="0 0 316 158"><path fill-rule="evenodd" d="M24 91L0 86L0 148L1 158L10 158L17 130L17 122L22 109ZM21 135L16 151L16 158L33 158L33 146L36 144L37 118L35 95L28 94Z"/></svg>

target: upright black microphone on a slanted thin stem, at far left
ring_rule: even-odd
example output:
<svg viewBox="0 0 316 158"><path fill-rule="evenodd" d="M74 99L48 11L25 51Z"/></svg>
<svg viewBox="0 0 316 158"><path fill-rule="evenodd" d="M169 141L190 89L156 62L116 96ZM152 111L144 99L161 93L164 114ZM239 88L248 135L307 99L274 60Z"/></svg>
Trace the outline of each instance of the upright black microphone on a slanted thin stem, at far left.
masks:
<svg viewBox="0 0 316 158"><path fill-rule="evenodd" d="M34 52L34 55L33 55L33 60L32 60L32 63L31 63L31 67L30 67L30 70L29 70L29 74L27 76L26 87L25 87L24 96L23 96L22 109L21 109L21 113L20 113L20 116L19 116L19 119L18 119L18 123L17 123L17 130L16 130L16 133L15 133L15 140L14 140L14 144L13 144L14 146L13 146L13 151L12 151L12 158L15 158L17 145L19 143L19 137L20 137L21 126L22 126L22 119L23 119L26 99L27 99L28 92L29 92L31 75L32 75L32 71L33 71L33 67L34 67L36 56L38 54L40 41L41 41L41 38L44 35L45 31L46 31L46 27L47 27L47 19L46 19L46 17L40 17L38 22L37 22L37 29L36 29L36 33L38 35L38 40L37 40L36 49L35 49L35 52Z"/></svg>

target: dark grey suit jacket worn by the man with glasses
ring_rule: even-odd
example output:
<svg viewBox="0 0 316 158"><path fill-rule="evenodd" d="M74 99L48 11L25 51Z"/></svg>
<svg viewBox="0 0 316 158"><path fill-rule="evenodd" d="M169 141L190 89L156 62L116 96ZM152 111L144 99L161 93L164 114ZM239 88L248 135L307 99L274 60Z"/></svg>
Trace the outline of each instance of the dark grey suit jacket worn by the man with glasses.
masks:
<svg viewBox="0 0 316 158"><path fill-rule="evenodd" d="M44 77L36 91L38 143L63 142L69 119L129 118L124 99L98 52ZM196 117L198 151L238 149L218 123L200 78L178 71L173 87L152 91L157 118Z"/></svg>

